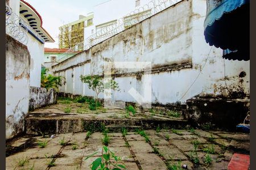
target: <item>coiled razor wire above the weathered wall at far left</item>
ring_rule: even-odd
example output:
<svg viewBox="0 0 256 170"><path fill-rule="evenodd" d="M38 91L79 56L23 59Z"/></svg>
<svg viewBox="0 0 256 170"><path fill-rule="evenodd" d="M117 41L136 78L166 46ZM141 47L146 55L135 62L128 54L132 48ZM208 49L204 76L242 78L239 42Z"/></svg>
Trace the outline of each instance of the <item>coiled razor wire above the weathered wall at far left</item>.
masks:
<svg viewBox="0 0 256 170"><path fill-rule="evenodd" d="M6 5L5 10L5 32L7 35L13 37L24 45L27 45L28 36L28 26L26 22L16 15L13 10Z"/></svg>

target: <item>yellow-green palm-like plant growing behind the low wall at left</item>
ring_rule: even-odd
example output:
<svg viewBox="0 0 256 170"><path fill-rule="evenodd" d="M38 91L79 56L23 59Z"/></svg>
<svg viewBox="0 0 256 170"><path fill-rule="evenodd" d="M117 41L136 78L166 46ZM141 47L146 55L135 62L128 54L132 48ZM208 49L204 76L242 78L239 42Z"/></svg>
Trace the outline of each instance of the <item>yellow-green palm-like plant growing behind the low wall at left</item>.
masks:
<svg viewBox="0 0 256 170"><path fill-rule="evenodd" d="M61 86L62 76L54 76L51 74L47 75L48 69L45 67L41 70L41 87L46 88L54 88L56 91L59 91L59 86Z"/></svg>

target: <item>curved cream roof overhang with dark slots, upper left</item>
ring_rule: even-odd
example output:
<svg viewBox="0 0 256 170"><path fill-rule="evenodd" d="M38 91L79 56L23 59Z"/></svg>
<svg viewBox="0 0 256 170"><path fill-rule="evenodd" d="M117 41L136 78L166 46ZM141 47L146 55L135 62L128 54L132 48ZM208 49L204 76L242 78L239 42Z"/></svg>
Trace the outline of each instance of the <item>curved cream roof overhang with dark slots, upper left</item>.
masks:
<svg viewBox="0 0 256 170"><path fill-rule="evenodd" d="M39 41L41 39L45 42L55 42L53 38L49 35L49 33L42 27L42 17L39 15L34 7L32 7L24 0L20 0L19 14L24 20L26 20L27 24L30 25L32 29L34 29L36 35L33 34L33 36L39 38Z"/></svg>

